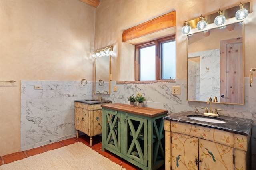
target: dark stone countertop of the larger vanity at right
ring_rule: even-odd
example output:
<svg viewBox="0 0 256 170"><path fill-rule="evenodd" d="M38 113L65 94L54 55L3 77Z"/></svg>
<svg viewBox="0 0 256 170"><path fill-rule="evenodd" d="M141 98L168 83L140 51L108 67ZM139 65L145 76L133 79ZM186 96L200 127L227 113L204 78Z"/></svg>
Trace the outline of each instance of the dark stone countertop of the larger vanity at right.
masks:
<svg viewBox="0 0 256 170"><path fill-rule="evenodd" d="M224 130L227 132L232 132L236 134L242 134L245 136L250 135L250 131L252 129L253 121L250 119L243 119L237 117L228 117L228 116L221 116L219 118L224 119L226 123L211 123L211 122L204 122L204 121L197 121L194 119L190 119L187 115L203 115L203 113L195 113L192 111L182 111L179 113L171 114L163 119L182 122L182 123L189 123L193 125L200 125L204 127L215 128L219 130ZM205 116L205 115L204 115ZM208 116L211 117L211 116Z"/></svg>

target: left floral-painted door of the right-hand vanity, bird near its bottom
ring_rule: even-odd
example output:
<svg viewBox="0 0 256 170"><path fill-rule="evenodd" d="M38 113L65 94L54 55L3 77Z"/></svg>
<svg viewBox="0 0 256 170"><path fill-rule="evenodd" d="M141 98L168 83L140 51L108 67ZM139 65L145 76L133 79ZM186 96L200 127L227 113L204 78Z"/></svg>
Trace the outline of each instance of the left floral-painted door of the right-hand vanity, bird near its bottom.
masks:
<svg viewBox="0 0 256 170"><path fill-rule="evenodd" d="M171 133L172 170L198 169L198 138L180 133Z"/></svg>

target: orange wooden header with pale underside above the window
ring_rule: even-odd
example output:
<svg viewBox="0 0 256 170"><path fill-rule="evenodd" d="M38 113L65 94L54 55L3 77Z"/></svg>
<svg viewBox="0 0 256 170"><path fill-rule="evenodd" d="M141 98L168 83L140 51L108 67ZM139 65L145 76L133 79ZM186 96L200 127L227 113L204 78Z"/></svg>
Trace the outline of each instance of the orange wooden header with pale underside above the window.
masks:
<svg viewBox="0 0 256 170"><path fill-rule="evenodd" d="M174 28L174 31L173 31L173 28ZM144 41L143 36L148 36L148 38L146 39L158 39L158 38L162 38L163 36L169 36L170 34L173 35L173 33L175 34L175 28L176 28L176 12L173 11L168 14L154 18L150 21L144 22L138 26L134 26L132 28L124 30L122 34L122 38L123 38L122 42L132 43L136 45ZM136 41L134 42L132 40L136 40ZM145 41L150 41L150 40L145 40Z"/></svg>

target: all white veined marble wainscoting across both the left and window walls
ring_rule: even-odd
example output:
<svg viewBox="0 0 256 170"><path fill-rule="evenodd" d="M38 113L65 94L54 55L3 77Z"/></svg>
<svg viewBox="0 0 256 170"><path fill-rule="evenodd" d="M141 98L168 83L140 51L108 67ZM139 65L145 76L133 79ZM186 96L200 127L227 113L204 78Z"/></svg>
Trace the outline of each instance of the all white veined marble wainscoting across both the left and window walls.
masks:
<svg viewBox="0 0 256 170"><path fill-rule="evenodd" d="M256 77L254 77L256 79ZM256 85L249 85L249 77L244 78L244 105L213 103L213 109L222 109L220 115L252 119L251 150L256 150ZM34 85L42 85L42 90L34 90ZM113 92L113 86L118 91ZM180 86L181 95L172 95L172 86ZM169 113L180 111L204 112L201 107L209 107L205 102L186 100L186 79L175 83L118 84L111 81L110 95L101 94L112 103L126 103L128 96L141 92L146 97L144 105L166 109ZM75 136L74 100L96 98L93 82L80 85L80 81L22 81L21 86L21 149L42 146ZM98 96L98 95L97 95ZM255 152L252 153L252 158Z"/></svg>

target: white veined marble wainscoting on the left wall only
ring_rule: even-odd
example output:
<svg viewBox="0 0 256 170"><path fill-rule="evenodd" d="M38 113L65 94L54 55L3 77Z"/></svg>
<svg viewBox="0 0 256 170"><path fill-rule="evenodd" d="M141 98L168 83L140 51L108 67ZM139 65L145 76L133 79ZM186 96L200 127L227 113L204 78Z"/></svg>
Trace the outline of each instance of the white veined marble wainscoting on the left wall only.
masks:
<svg viewBox="0 0 256 170"><path fill-rule="evenodd" d="M20 150L76 136L74 100L91 99L93 87L94 82L22 80Z"/></svg>

